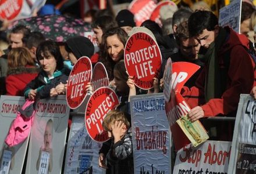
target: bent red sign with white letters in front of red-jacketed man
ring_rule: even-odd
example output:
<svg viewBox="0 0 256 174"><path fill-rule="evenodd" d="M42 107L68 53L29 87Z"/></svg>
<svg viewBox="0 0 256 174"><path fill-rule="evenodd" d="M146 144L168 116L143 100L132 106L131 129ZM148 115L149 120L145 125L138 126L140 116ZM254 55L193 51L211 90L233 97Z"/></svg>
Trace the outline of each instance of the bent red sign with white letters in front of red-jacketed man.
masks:
<svg viewBox="0 0 256 174"><path fill-rule="evenodd" d="M199 68L200 66L189 62L179 61L172 63L170 101L165 102L165 111L169 121L170 130L172 131L173 143L175 144L176 150L179 150L190 143L190 140L176 123L177 119L186 115L190 111L190 106L180 94L180 90ZM165 69L165 71L167 70Z"/></svg>

